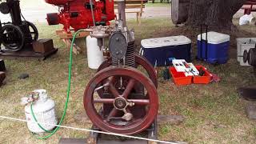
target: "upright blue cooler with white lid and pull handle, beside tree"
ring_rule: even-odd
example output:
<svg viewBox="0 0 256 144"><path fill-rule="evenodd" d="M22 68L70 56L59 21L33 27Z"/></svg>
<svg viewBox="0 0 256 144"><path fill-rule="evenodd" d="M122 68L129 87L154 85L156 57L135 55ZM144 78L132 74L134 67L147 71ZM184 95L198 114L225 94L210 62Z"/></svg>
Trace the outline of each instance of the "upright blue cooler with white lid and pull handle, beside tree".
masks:
<svg viewBox="0 0 256 144"><path fill-rule="evenodd" d="M201 39L202 38L202 39ZM198 59L211 64L224 64L228 61L230 35L214 31L198 35Z"/></svg>

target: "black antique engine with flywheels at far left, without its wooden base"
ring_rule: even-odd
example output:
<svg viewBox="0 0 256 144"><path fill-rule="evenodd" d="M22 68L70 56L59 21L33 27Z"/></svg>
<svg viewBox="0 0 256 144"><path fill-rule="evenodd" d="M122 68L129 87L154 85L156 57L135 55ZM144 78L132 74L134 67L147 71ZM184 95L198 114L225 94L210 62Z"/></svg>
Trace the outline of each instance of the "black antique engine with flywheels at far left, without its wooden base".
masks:
<svg viewBox="0 0 256 144"><path fill-rule="evenodd" d="M0 0L0 12L2 14L10 14L12 22L3 22L1 32L2 45L5 50L18 51L26 45L38 39L38 30L33 23L22 21L19 0ZM1 22L0 22L1 23Z"/></svg>

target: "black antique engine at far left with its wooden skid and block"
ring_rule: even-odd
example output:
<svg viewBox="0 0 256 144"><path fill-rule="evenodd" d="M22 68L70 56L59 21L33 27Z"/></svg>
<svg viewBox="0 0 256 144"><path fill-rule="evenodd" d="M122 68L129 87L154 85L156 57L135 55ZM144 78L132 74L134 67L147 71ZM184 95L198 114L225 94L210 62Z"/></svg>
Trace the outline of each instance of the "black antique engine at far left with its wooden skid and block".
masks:
<svg viewBox="0 0 256 144"><path fill-rule="evenodd" d="M23 17L19 0L0 0L0 12L11 18L0 22L0 56L44 60L58 51L51 39L38 40L38 29Z"/></svg>

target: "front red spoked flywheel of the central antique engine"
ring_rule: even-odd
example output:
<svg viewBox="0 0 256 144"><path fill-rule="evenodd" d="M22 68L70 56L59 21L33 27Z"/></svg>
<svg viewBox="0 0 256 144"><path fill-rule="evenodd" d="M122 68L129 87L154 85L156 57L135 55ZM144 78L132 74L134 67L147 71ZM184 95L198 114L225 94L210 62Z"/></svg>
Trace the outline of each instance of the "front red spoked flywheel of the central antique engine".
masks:
<svg viewBox="0 0 256 144"><path fill-rule="evenodd" d="M118 82L122 85L117 85ZM144 86L146 92L143 97L134 97L136 83ZM104 87L97 87L99 84ZM97 96L96 91L101 88L108 91L109 96ZM130 67L110 66L99 71L87 85L83 103L86 114L95 126L100 130L117 134L137 134L146 130L158 114L158 94L154 83L145 74ZM111 107L109 113L104 114L102 108L97 110L97 104ZM138 111L133 110L136 106L135 110L143 109L145 114L136 116L135 113Z"/></svg>

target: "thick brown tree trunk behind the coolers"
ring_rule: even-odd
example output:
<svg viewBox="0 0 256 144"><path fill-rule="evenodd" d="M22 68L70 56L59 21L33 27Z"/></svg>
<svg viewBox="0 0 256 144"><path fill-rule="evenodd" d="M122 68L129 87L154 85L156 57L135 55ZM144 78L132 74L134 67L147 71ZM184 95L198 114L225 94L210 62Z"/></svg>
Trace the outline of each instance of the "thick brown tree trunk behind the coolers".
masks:
<svg viewBox="0 0 256 144"><path fill-rule="evenodd" d="M206 24L214 28L230 29L233 15L247 0L190 0L190 10L186 24L200 26Z"/></svg>

